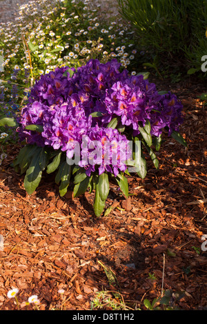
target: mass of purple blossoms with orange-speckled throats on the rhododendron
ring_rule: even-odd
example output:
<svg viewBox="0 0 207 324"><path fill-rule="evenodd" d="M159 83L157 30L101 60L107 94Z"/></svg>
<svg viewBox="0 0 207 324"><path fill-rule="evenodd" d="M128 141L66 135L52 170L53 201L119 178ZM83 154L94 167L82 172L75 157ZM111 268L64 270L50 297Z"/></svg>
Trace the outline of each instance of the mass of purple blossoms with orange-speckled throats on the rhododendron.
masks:
<svg viewBox="0 0 207 324"><path fill-rule="evenodd" d="M168 128L169 134L178 130L182 123L182 105L177 97L170 92L161 95L155 84L144 80L142 75L132 77L127 70L119 72L119 68L115 59L105 64L91 59L77 70L63 67L41 75L30 92L28 105L21 111L20 138L27 143L62 150L71 159L75 143L81 145L83 136L88 136L89 143L116 139L125 146L126 135L107 128L114 117L126 126L126 134L127 130L132 130L133 135L139 134L139 125L144 126L147 120L154 136L159 136L163 128ZM92 118L92 112L101 112L102 116ZM32 124L41 125L43 132L26 130L26 126ZM113 149L108 152L108 158L112 159ZM104 170L114 174L118 169L126 170L122 163L114 168L104 164L103 159L96 163L100 165L99 174ZM94 165L82 166L88 174L95 171Z"/></svg>

